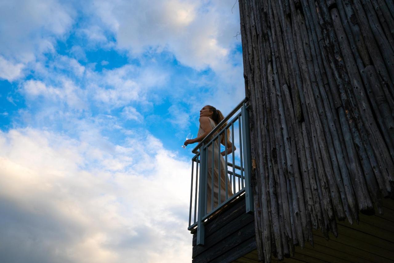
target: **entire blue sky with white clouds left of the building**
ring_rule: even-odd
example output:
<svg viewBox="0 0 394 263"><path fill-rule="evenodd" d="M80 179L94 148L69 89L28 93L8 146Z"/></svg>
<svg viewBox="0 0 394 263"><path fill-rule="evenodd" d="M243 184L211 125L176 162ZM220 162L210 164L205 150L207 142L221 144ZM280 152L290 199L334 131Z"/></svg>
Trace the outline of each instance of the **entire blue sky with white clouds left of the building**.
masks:
<svg viewBox="0 0 394 263"><path fill-rule="evenodd" d="M191 262L180 145L244 97L233 5L0 0L0 262Z"/></svg>

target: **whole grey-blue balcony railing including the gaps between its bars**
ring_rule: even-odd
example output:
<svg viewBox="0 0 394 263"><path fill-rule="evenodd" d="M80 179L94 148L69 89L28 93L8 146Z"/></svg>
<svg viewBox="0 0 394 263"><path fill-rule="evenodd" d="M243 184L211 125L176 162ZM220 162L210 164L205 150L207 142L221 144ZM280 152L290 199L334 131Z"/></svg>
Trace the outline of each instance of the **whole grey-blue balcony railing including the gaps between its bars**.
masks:
<svg viewBox="0 0 394 263"><path fill-rule="evenodd" d="M245 212L253 212L249 112L246 102L247 98L242 100L193 149L195 156L191 159L188 229L197 227L197 245L204 244L204 222L240 195L245 194ZM224 145L220 141L223 136L227 138L229 132L232 152L228 156L227 139L222 140ZM224 164L221 157L223 147ZM226 176L223 177L221 173ZM225 184L224 187L222 184Z"/></svg>

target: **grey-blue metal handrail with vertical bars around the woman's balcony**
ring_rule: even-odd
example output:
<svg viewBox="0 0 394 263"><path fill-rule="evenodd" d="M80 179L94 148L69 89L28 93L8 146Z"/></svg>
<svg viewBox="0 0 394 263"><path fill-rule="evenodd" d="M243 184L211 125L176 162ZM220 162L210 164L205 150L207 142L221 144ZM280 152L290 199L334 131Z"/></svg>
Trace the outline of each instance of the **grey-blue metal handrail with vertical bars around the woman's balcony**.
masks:
<svg viewBox="0 0 394 263"><path fill-rule="evenodd" d="M251 183L251 151L250 151L250 130L249 130L249 110L246 105L248 98L243 99L230 113L227 115L212 131L206 135L206 137L193 149L195 156L191 158L191 186L190 186L190 209L189 209L189 230L194 229L197 225L197 245L204 244L204 222L210 216L217 212L218 209L222 209L227 203L232 202L235 198L241 195L245 196L245 210L247 213L253 212L253 190ZM237 111L240 110L239 113ZM229 121L228 124L225 123ZM240 150L240 165L235 164L234 156L234 124L238 121L239 127L239 150ZM229 131L228 131L229 130ZM214 205L214 176L213 170L215 167L215 144L214 141L220 139L220 136L224 134L227 137L227 132L231 132L232 135L232 163L227 160L227 154L225 154L225 166L223 173L226 174L225 179L225 197L221 200L221 173L218 170L218 186L219 194L217 195L217 206ZM210 138L210 137L213 138ZM224 142L224 146L227 149L227 140ZM212 149L210 148L212 147ZM237 147L238 148L238 147ZM208 150L211 149L211 150ZM216 154L220 156L220 147L217 149ZM209 158L212 158L212 167L208 168L208 151L212 151ZM220 163L219 162L219 167ZM194 163L196 165L195 178L193 178ZM232 167L232 171L229 171L228 167ZM210 178L210 199L208 199L208 169L212 169L212 176ZM236 173L240 171L240 174ZM227 176L229 175L229 178ZM238 178L238 187L236 186L236 178ZM194 184L193 184L194 182ZM228 185L229 184L229 185ZM223 186L224 187L224 186ZM228 188L232 188L232 195L228 196ZM238 189L238 190L236 190ZM194 195L193 195L194 193ZM194 198L193 198L194 197ZM193 205L194 200L194 205ZM198 200L198 202L197 202ZM210 211L208 212L207 205L210 200ZM194 207L194 220L192 218L192 206Z"/></svg>

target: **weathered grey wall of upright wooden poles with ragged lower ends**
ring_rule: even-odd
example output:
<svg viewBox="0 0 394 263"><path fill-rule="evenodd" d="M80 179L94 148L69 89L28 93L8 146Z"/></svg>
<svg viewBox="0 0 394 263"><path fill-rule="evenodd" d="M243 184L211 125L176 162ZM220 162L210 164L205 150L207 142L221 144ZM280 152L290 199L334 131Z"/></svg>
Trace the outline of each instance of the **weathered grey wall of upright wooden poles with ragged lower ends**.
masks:
<svg viewBox="0 0 394 263"><path fill-rule="evenodd" d="M266 262L394 194L393 0L239 0Z"/></svg>

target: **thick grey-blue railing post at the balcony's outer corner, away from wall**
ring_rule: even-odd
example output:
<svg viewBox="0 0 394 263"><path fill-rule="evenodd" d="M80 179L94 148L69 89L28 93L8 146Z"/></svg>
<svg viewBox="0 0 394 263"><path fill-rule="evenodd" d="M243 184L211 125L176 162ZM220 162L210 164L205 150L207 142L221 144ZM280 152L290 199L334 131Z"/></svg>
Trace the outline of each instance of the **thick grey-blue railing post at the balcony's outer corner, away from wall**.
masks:
<svg viewBox="0 0 394 263"><path fill-rule="evenodd" d="M204 245L205 228L203 217L205 216L205 173L206 173L206 147L205 143L200 147L200 180L198 195L198 215L197 215L197 245Z"/></svg>

